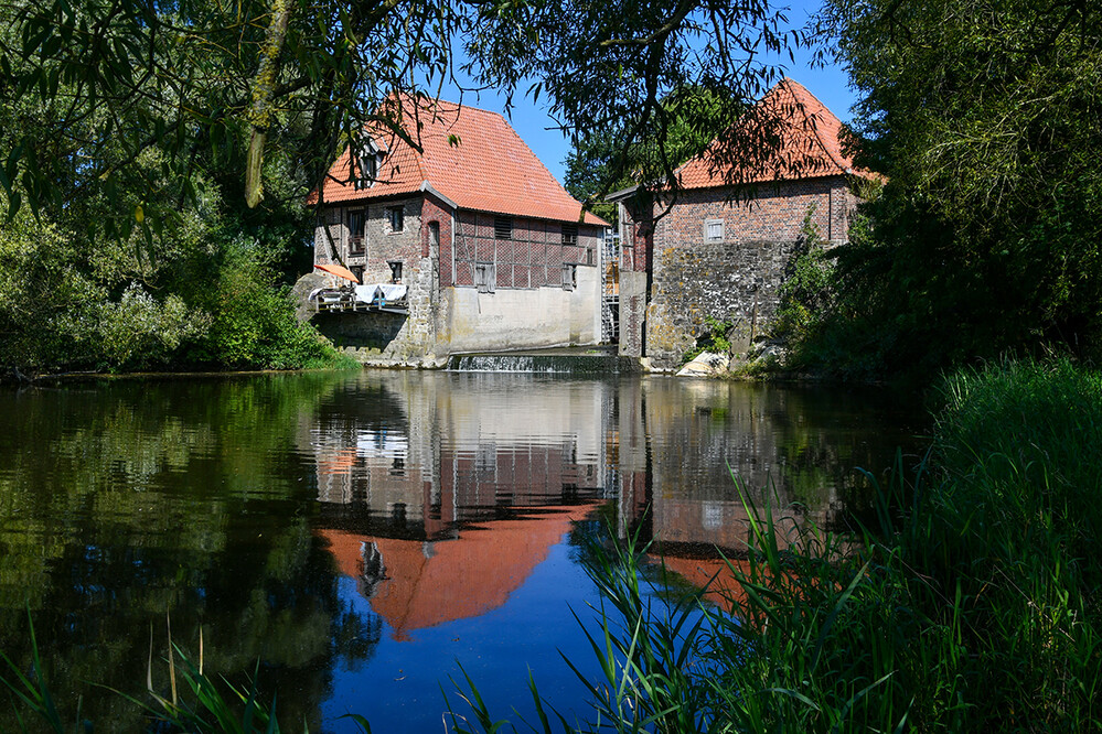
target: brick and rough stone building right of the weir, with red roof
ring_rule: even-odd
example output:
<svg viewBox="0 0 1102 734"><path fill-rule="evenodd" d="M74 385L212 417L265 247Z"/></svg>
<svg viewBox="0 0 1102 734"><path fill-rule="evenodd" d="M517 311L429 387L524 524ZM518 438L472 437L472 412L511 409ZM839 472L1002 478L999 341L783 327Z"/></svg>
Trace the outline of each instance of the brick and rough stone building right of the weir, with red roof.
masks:
<svg viewBox="0 0 1102 734"><path fill-rule="evenodd" d="M853 182L871 174L854 170L841 131L822 102L784 79L734 134L677 169L676 192L610 195L620 204L621 354L675 367L707 331L706 315L735 322L745 346L761 333L804 219L832 244L847 238Z"/></svg>

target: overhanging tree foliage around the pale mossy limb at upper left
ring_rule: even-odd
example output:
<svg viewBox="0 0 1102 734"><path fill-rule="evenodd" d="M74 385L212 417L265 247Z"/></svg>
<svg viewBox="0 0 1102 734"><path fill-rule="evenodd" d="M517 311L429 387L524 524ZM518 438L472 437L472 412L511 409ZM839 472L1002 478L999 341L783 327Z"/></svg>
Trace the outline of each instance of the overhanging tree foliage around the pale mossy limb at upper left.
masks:
<svg viewBox="0 0 1102 734"><path fill-rule="evenodd" d="M6 145L0 184L13 207L25 197L35 211L103 191L126 209L106 220L109 235L171 211L119 207L122 190L174 185L193 197L202 156L232 164L249 207L264 151L317 182L342 137L377 117L374 101L443 77L459 21L419 0L55 0L0 12L0 89L41 105L46 128L17 126L24 134ZM151 149L160 166L143 171Z"/></svg>

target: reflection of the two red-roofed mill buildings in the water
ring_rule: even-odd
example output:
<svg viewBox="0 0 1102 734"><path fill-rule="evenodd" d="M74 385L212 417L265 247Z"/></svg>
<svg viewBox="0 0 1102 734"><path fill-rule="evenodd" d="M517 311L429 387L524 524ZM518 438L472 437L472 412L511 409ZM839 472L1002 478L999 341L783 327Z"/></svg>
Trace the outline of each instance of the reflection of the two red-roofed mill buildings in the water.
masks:
<svg viewBox="0 0 1102 734"><path fill-rule="evenodd" d="M399 639L502 605L601 505L703 583L750 540L732 476L793 538L855 458L816 406L760 386L366 373L333 401L309 431L317 532Z"/></svg>

